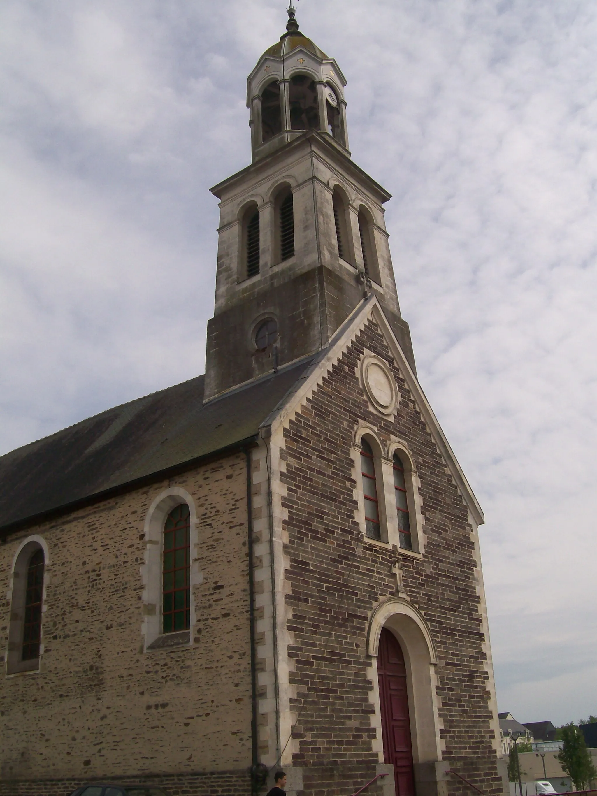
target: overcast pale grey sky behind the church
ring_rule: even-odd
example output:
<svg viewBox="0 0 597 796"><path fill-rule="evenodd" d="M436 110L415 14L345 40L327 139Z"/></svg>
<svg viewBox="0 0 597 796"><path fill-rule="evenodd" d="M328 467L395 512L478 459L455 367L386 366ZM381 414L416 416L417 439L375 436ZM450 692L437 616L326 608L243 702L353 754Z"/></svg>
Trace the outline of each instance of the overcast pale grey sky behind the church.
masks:
<svg viewBox="0 0 597 796"><path fill-rule="evenodd" d="M486 513L499 709L597 713L597 4L301 0ZM204 370L283 0L2 0L0 453Z"/></svg>

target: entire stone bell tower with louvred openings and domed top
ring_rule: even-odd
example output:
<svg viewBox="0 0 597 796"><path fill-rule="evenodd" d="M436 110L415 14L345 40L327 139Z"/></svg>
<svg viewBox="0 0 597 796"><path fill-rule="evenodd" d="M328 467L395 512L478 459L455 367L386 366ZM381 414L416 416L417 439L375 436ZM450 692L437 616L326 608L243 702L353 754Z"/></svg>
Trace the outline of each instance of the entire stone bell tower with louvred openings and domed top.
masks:
<svg viewBox="0 0 597 796"><path fill-rule="evenodd" d="M350 158L346 80L298 29L248 77L252 164L215 185L205 401L316 353L374 292L413 369L384 224L390 194Z"/></svg>

